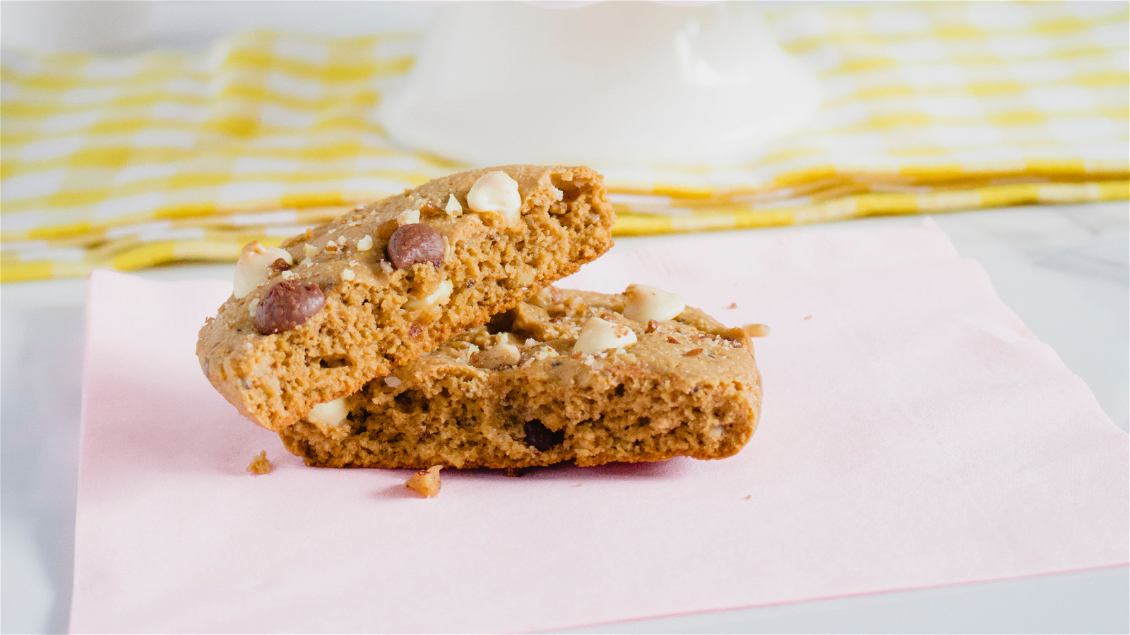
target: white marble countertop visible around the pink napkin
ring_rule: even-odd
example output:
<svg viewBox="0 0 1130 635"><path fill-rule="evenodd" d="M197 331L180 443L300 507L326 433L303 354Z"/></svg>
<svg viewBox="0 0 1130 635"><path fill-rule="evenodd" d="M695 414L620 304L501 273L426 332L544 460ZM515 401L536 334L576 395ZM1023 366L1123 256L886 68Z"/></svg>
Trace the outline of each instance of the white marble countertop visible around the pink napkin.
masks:
<svg viewBox="0 0 1130 635"><path fill-rule="evenodd" d="M1130 202L937 216L958 252L1128 429ZM840 226L892 226L916 217ZM749 232L808 232L782 227ZM615 250L670 236L620 238ZM232 279L231 266L142 272ZM5 633L64 632L70 609L85 280L0 286ZM592 633L1125 633L1127 567L605 625Z"/></svg>

